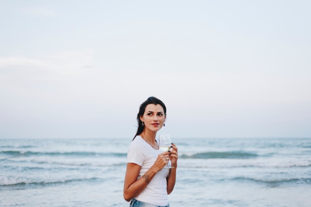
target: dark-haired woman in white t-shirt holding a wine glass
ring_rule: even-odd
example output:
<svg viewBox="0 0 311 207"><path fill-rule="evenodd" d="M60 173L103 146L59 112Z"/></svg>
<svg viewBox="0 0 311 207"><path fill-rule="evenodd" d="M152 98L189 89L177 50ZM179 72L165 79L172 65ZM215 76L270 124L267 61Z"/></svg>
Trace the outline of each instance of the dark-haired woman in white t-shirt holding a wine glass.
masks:
<svg viewBox="0 0 311 207"><path fill-rule="evenodd" d="M141 104L138 129L128 150L123 196L130 207L169 207L168 194L175 186L178 152L175 144L162 152L156 133L164 125L166 107L156 97ZM167 163L173 168L163 168Z"/></svg>

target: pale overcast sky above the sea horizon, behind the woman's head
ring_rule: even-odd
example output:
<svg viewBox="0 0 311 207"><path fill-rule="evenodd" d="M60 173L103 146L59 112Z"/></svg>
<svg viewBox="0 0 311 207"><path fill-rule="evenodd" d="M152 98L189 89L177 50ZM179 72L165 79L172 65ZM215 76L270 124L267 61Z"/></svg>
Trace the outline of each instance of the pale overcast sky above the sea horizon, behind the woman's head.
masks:
<svg viewBox="0 0 311 207"><path fill-rule="evenodd" d="M309 0L0 0L0 138L311 137Z"/></svg>

